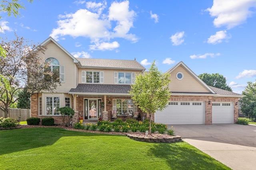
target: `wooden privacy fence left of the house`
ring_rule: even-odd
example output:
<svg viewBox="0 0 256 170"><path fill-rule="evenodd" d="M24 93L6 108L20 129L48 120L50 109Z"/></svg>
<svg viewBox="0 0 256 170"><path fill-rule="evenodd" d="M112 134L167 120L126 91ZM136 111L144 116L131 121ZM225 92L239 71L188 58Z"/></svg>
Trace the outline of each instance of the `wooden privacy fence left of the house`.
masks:
<svg viewBox="0 0 256 170"><path fill-rule="evenodd" d="M28 117L30 117L30 109L16 109L16 108L9 108L9 116L13 119L19 119L20 121L26 121ZM0 110L0 117L4 117L4 112Z"/></svg>

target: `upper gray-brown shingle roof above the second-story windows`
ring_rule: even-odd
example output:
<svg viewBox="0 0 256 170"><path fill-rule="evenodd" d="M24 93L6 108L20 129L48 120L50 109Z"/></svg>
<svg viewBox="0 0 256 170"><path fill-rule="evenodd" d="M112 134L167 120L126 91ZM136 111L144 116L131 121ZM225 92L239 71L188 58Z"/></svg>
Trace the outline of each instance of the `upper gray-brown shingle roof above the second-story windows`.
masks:
<svg viewBox="0 0 256 170"><path fill-rule="evenodd" d="M116 60L116 59L86 59L76 58L80 61L83 67L96 67L96 68L123 68L123 69L135 69L146 70L136 60Z"/></svg>

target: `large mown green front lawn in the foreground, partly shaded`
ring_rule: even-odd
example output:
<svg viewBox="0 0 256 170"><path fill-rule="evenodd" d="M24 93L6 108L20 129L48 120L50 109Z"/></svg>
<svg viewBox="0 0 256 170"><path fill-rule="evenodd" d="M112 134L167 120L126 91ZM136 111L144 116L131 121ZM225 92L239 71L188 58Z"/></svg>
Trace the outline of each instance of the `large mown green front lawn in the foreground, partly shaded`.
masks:
<svg viewBox="0 0 256 170"><path fill-rule="evenodd" d="M123 135L30 128L0 131L2 170L224 170L186 142L144 143Z"/></svg>

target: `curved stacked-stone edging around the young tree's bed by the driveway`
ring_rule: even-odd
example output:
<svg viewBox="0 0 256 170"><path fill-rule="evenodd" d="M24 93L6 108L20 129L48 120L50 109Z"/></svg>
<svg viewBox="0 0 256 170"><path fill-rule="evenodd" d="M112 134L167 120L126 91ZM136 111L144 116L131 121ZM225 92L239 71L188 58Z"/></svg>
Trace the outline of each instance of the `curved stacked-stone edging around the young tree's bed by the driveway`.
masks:
<svg viewBox="0 0 256 170"><path fill-rule="evenodd" d="M173 137L144 137L127 133L126 136L130 139L142 142L155 142L155 143L173 143L182 141L181 136Z"/></svg>

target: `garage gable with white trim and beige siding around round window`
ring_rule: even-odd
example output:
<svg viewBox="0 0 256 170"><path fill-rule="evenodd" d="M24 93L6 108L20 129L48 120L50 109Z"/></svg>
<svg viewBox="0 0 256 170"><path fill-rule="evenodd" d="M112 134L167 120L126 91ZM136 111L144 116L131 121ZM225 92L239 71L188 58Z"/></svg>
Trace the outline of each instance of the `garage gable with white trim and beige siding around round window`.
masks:
<svg viewBox="0 0 256 170"><path fill-rule="evenodd" d="M176 78L176 74L178 72L182 72L184 74L184 78L182 80L178 80ZM171 92L187 92L187 93L205 93L205 94L216 94L214 90L212 90L207 84L205 84L186 64L182 61L172 68L170 68L166 73L170 73L171 81L169 85L169 89Z"/></svg>

